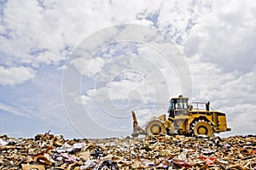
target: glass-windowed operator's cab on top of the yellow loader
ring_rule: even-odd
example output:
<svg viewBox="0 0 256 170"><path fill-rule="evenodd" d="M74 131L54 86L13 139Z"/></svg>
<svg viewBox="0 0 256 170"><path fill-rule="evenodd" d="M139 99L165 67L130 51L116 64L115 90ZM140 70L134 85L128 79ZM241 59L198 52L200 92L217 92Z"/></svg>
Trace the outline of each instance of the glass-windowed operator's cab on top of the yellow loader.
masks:
<svg viewBox="0 0 256 170"><path fill-rule="evenodd" d="M189 115L189 98L183 98L180 95L178 98L172 98L170 100L170 107L168 109L169 116L174 118L175 116L188 116Z"/></svg>

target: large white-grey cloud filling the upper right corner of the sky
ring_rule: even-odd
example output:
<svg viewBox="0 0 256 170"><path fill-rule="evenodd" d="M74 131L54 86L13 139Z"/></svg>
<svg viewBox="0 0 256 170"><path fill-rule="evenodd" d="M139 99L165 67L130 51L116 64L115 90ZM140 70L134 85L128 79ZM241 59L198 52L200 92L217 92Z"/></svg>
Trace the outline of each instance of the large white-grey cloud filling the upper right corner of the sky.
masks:
<svg viewBox="0 0 256 170"><path fill-rule="evenodd" d="M217 64L222 71L250 71L256 63L255 3L212 3L191 29L184 51Z"/></svg>

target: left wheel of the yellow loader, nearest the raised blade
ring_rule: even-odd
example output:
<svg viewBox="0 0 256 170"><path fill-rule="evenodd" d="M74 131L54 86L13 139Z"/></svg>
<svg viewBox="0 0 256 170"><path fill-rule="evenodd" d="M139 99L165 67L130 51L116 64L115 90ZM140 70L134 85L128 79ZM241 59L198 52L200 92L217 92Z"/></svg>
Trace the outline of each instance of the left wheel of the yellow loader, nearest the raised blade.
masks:
<svg viewBox="0 0 256 170"><path fill-rule="evenodd" d="M160 134L166 134L165 123L161 122L160 120L153 120L151 122L148 122L148 125L146 127L146 133L149 136L157 136Z"/></svg>

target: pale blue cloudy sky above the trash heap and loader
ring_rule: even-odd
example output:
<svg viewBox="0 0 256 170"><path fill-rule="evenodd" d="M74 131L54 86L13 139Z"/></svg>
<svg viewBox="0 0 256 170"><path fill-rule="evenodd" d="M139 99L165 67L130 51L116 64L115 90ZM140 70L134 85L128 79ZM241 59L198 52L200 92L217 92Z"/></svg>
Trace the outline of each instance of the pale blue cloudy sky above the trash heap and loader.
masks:
<svg viewBox="0 0 256 170"><path fill-rule="evenodd" d="M0 133L126 136L131 109L142 124L164 114L183 89L175 65L156 48L116 42L92 54L88 65L83 56L73 57L96 32L133 24L157 29L176 44L189 66L189 97L227 113L232 131L223 136L255 134L255 9L251 1L1 1ZM80 94L65 103L62 75L70 68L70 82L79 75ZM76 99L72 108L68 102Z"/></svg>

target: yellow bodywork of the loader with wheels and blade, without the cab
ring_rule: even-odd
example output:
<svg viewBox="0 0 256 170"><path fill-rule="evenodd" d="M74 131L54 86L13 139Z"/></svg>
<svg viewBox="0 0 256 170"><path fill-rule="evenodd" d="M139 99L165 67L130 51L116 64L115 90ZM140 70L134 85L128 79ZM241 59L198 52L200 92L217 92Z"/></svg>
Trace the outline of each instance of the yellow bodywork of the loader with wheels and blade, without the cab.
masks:
<svg viewBox="0 0 256 170"><path fill-rule="evenodd" d="M210 103L208 102L206 110L193 110L193 107L189 105L189 109L186 110L187 112L185 112L185 115L179 114L173 117L161 115L154 120L151 120L151 122L148 122L145 130L137 125L137 118L133 112L132 116L134 122L132 136L137 136L138 134L171 134L175 131L177 131L177 134L206 134L207 136L212 136L213 133L230 131L231 128L227 127L225 114L219 111L209 111L209 105ZM177 109L177 111L179 110Z"/></svg>

